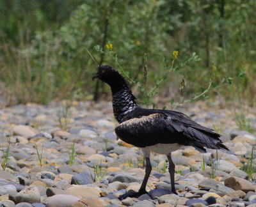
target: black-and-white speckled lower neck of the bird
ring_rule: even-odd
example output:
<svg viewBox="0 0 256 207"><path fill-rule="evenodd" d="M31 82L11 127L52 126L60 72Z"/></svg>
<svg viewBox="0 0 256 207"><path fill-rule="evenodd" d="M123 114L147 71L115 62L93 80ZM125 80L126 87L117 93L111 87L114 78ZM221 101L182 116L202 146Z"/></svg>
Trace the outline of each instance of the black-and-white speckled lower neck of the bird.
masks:
<svg viewBox="0 0 256 207"><path fill-rule="evenodd" d="M138 107L131 89L126 84L118 90L112 89L112 97L114 116L118 123L120 123L122 118L124 118L128 112L131 112Z"/></svg>

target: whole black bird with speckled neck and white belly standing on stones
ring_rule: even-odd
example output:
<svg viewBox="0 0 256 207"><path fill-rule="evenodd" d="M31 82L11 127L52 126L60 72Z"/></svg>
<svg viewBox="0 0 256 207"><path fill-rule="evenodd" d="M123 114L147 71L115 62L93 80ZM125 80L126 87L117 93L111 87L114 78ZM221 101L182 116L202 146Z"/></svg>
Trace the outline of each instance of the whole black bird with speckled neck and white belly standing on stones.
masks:
<svg viewBox="0 0 256 207"><path fill-rule="evenodd" d="M192 121L188 116L177 111L161 109L143 109L135 102L135 96L125 82L124 77L111 66L100 65L93 79L106 82L112 91L113 112L118 125L116 136L124 142L141 148L145 155L145 177L138 192L128 192L125 197L138 197L146 194L146 185L152 166L150 151L165 154L169 161L169 173L172 192L177 194L174 185L175 165L171 153L181 146L193 146L200 152L205 148L228 150L220 140L220 134L210 128Z"/></svg>

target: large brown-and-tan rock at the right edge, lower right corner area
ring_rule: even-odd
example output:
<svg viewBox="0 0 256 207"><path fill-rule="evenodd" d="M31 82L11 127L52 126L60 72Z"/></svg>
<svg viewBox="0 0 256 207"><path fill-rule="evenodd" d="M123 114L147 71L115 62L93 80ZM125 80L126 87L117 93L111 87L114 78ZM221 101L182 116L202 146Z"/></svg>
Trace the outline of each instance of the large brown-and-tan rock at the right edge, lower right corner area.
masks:
<svg viewBox="0 0 256 207"><path fill-rule="evenodd" d="M242 190L243 192L255 191L255 186L250 181L235 176L227 178L224 184L234 190Z"/></svg>

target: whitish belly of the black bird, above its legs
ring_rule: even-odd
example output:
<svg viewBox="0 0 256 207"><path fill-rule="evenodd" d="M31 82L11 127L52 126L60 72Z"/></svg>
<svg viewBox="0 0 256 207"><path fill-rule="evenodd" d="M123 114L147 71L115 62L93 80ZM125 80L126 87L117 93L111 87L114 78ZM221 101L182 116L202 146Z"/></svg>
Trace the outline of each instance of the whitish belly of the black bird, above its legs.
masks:
<svg viewBox="0 0 256 207"><path fill-rule="evenodd" d="M147 146L145 148L141 148L141 150L143 151L145 157L149 157L150 151L154 151L155 153L167 155L167 154L171 153L172 151L179 150L179 148L181 148L181 147L182 147L182 145L180 145L178 143L155 144L152 146Z"/></svg>

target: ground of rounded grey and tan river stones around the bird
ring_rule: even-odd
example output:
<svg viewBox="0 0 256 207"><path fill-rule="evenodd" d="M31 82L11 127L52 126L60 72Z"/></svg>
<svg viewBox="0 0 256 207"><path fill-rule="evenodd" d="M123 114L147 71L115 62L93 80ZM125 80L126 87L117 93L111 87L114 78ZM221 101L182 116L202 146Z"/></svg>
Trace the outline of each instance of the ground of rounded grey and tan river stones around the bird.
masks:
<svg viewBox="0 0 256 207"><path fill-rule="evenodd" d="M110 102L74 102L70 110L69 128L61 130L58 114L63 112L55 102L0 109L1 156L10 140L8 164L0 171L0 206L256 206L256 137L236 129L229 109L209 109L204 103L177 108L221 132L230 152L203 154L192 147L174 151L179 195L170 192L168 160L152 153L149 194L123 201L119 195L140 188L143 154L116 141ZM65 118L61 121L65 123ZM70 166L74 143L76 160ZM42 167L35 146L42 153ZM241 170L244 162L246 172Z"/></svg>

